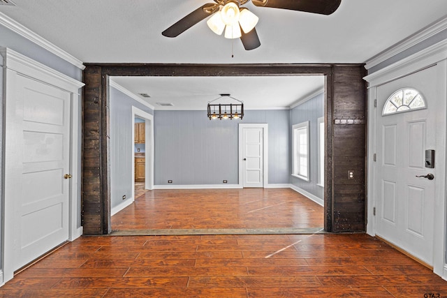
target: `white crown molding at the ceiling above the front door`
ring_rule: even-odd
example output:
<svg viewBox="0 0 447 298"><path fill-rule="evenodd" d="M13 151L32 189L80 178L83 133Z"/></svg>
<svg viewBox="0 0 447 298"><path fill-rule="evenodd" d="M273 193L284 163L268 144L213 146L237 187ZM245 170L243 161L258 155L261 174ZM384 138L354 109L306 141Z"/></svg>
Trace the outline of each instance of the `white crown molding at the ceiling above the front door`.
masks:
<svg viewBox="0 0 447 298"><path fill-rule="evenodd" d="M404 50L408 50L410 47L413 47L418 43L422 43L424 40L427 40L428 38L446 29L447 29L447 17L443 17L440 20L437 20L437 22L434 22L430 24L428 27L425 27L425 29L422 29L414 33L408 38L405 38L404 40L400 41L400 43L396 43L392 47L388 47L387 50L384 50L383 52L377 54L371 59L368 59L365 62L366 64L365 68L369 69L374 66L377 66L378 64L381 64L383 61L386 61L387 59L390 59L391 57L394 57L395 55L404 52Z"/></svg>

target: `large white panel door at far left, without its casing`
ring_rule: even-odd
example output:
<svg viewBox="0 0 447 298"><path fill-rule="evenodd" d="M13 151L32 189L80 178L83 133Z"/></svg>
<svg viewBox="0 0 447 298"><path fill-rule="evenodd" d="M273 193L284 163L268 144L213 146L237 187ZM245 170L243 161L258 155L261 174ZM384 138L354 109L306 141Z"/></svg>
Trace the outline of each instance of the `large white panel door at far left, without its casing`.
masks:
<svg viewBox="0 0 447 298"><path fill-rule="evenodd" d="M71 94L17 75L15 114L6 133L16 142L14 267L68 239Z"/></svg>

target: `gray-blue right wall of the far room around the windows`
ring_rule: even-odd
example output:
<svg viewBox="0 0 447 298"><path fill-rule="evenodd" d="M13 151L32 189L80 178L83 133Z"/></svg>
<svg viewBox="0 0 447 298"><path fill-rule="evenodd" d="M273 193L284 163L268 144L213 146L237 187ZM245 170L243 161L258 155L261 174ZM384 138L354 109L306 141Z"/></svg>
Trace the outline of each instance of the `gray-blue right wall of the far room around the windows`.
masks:
<svg viewBox="0 0 447 298"><path fill-rule="evenodd" d="M302 180L291 176L289 172L290 183L298 188L301 188L308 193L312 193L318 198L324 198L324 188L318 186L318 118L324 116L324 94L315 96L307 100L305 103L294 107L290 110L291 123L288 128L290 140L292 140L292 126L300 124L304 121L309 121L309 158L310 158L310 179L309 181ZM292 147L292 144L290 144ZM292 161L292 159L291 159Z"/></svg>

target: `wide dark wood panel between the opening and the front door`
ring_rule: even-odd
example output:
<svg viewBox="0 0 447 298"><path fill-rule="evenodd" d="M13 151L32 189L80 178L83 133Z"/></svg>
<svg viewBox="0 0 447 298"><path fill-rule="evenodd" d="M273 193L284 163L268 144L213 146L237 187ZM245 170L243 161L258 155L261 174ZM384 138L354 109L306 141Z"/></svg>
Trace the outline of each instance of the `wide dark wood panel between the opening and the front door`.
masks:
<svg viewBox="0 0 447 298"><path fill-rule="evenodd" d="M366 206L365 68L334 66L332 74L332 117L355 122L333 124L331 232L360 232L365 231ZM349 179L349 170L354 172L353 179Z"/></svg>

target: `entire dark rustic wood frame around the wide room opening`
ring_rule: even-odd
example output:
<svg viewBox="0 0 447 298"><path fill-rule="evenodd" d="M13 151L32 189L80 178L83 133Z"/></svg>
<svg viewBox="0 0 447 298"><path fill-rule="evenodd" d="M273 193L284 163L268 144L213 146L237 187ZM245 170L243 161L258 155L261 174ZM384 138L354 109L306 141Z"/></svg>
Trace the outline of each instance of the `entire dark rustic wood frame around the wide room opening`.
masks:
<svg viewBox="0 0 447 298"><path fill-rule="evenodd" d="M366 86L362 80L365 75L362 65L87 64L84 70L82 159L85 234L110 232L109 75L325 75L325 230L365 230ZM355 120L356 123L335 124L340 119ZM347 170L355 171L354 179L348 181ZM346 186L355 191L348 191Z"/></svg>

